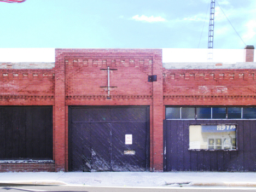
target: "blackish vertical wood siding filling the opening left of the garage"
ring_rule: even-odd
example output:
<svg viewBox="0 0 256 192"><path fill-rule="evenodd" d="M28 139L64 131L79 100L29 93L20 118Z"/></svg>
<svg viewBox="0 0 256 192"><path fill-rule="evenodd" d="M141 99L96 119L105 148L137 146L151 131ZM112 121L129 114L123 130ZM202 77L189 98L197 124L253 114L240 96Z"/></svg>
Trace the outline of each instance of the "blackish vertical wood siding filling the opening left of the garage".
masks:
<svg viewBox="0 0 256 192"><path fill-rule="evenodd" d="M53 159L52 107L0 107L0 159Z"/></svg>

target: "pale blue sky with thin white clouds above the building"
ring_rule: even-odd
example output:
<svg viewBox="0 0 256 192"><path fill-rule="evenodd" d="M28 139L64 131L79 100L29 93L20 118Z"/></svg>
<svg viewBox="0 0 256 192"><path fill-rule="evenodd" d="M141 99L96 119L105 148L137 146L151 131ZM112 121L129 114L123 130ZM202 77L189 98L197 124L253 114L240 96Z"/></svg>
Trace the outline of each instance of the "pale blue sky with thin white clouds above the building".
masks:
<svg viewBox="0 0 256 192"><path fill-rule="evenodd" d="M206 11L209 2L0 2L0 48L207 48L210 8L207 14ZM245 43L255 46L256 1L218 0L218 3ZM217 3L215 13L214 48L243 49L245 44Z"/></svg>

